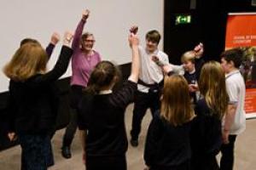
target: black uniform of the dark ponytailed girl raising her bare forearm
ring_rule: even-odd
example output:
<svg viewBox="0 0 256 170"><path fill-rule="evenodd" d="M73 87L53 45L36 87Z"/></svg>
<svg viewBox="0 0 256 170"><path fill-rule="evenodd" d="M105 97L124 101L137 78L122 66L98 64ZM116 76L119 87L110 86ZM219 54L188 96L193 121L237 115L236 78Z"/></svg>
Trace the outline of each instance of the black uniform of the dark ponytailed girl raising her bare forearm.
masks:
<svg viewBox="0 0 256 170"><path fill-rule="evenodd" d="M79 129L87 131L86 169L126 169L128 148L125 109L134 98L137 83L127 81L116 92L84 94L79 105Z"/></svg>

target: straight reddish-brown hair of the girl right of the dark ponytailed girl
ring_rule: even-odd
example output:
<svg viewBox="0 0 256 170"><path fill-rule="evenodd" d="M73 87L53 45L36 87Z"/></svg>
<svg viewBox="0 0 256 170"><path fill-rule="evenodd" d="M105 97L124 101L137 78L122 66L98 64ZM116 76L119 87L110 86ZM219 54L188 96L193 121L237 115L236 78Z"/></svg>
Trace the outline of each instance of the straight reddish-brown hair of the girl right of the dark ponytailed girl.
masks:
<svg viewBox="0 0 256 170"><path fill-rule="evenodd" d="M189 97L189 85L184 77L165 77L160 116L173 126L183 125L194 117Z"/></svg>

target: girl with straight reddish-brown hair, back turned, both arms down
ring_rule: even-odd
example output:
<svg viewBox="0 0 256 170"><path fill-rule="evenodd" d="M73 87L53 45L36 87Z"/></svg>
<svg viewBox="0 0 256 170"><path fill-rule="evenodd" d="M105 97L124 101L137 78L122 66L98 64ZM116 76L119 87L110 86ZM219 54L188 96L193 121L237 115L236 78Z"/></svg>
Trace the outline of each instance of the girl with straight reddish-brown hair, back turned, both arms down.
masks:
<svg viewBox="0 0 256 170"><path fill-rule="evenodd" d="M165 77L160 111L148 127L144 160L150 170L189 170L194 111L184 77Z"/></svg>

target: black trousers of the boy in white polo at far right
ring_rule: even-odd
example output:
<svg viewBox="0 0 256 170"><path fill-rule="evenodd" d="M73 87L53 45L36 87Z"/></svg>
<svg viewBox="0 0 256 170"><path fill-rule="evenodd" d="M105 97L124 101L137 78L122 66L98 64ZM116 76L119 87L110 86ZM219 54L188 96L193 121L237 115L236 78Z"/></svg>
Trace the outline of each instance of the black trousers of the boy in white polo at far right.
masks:
<svg viewBox="0 0 256 170"><path fill-rule="evenodd" d="M221 170L232 170L234 165L234 147L236 142L236 135L229 136L230 143L222 144L221 158L220 158L220 169Z"/></svg>

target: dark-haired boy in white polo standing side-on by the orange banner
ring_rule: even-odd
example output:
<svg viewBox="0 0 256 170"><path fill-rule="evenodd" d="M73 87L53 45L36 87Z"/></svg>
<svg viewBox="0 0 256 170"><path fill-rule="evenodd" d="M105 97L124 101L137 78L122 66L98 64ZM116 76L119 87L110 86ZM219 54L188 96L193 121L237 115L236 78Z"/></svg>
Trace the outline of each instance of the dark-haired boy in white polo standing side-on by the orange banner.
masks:
<svg viewBox="0 0 256 170"><path fill-rule="evenodd" d="M220 169L224 170L233 169L236 136L246 129L244 111L246 88L239 71L242 55L241 48L233 48L221 54L221 65L226 73L226 88L230 97L230 109L223 122L224 144L221 147Z"/></svg>

